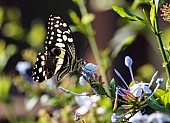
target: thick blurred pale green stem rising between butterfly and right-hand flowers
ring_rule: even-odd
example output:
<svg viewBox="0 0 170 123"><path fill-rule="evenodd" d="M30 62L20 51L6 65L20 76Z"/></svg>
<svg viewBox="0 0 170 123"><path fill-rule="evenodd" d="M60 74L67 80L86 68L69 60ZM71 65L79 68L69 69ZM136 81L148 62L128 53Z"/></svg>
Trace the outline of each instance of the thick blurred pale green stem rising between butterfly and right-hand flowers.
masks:
<svg viewBox="0 0 170 123"><path fill-rule="evenodd" d="M80 8L81 14L87 15L88 12L87 12L84 0L78 0L78 5L79 5L79 8ZM86 25L86 30L87 30L87 32L93 32L92 25L91 24ZM108 78L107 78L107 75L106 75L106 70L104 69L104 67L102 65L101 56L100 56L94 35L88 35L87 38L89 40L92 52L93 52L94 57L95 57L95 60L96 60L97 64L100 66L100 72L102 74L103 81L106 82L104 84L105 89L108 90Z"/></svg>

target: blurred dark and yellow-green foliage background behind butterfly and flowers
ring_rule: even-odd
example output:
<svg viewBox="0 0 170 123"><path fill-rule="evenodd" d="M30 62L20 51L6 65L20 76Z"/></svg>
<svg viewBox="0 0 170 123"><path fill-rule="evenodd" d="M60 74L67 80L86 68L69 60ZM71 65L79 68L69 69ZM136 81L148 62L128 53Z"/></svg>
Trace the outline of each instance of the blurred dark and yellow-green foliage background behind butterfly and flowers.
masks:
<svg viewBox="0 0 170 123"><path fill-rule="evenodd" d="M84 45L89 44L87 37L74 31L75 24L70 19L69 12L74 10L79 17L83 15L73 1L0 1L0 123L48 123L51 122L51 117L56 123L73 122L74 111L79 106L73 95L64 94L55 86L61 84L77 93L87 89L90 91L90 87L80 86L75 74L64 77L62 83L49 80L39 84L33 82L30 77L37 53L44 51L50 14L61 15L71 26L79 57L83 49L85 50L83 59L97 63L91 51L93 47L88 46L86 49ZM162 1L164 2L166 1ZM121 19L112 10L113 4L129 9L141 17L143 17L142 8L146 9L146 12L150 9L147 2L138 3L137 0L86 1L88 12L95 15L92 27L98 49L103 58L109 59L104 62L108 66L109 81L115 77L117 82L121 83L113 73L113 68L118 69L125 80L130 81L130 74L124 65L126 55L134 60L133 70L137 80L149 82L156 70L159 70L159 75L164 77L161 55L154 35L137 22ZM161 14L160 11L159 13ZM161 17L159 22L164 33L164 43L167 44L170 38L169 23L164 22ZM97 107L102 107L104 111L98 113ZM91 118L86 117L86 121L109 122L109 116L112 114L112 109L109 110L109 107L111 107L109 99L100 100L96 108L91 109L92 113L88 113L87 116ZM94 120L92 117L95 117Z"/></svg>

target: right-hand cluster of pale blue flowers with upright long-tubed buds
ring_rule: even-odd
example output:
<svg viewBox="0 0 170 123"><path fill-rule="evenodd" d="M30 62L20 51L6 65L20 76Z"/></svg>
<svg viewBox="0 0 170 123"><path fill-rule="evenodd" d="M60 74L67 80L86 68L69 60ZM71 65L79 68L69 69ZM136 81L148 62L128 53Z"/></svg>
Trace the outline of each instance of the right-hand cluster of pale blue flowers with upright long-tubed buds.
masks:
<svg viewBox="0 0 170 123"><path fill-rule="evenodd" d="M124 101L119 100L123 103L121 105L121 108L128 110L128 111L121 115L116 115L116 113L113 113L111 117L112 122L119 122L120 120L123 120L123 119L127 120L133 115L135 115L137 112L141 111L145 107L145 104L147 103L147 101L151 99L153 94L156 92L158 87L164 82L163 78L157 78L156 80L157 86L152 92L150 87L152 83L155 81L158 71L155 72L155 74L151 78L150 83L137 82L133 76L132 62L133 61L129 56L125 57L125 65L129 68L131 79L132 79L132 83L130 84L132 86L130 87L127 85L126 81L121 76L121 74L116 69L114 69L117 76L122 80L122 82L125 85L125 87L120 87L120 86L116 87L114 111L116 111L117 109L118 96L120 96L124 100ZM128 115L130 115L130 117Z"/></svg>

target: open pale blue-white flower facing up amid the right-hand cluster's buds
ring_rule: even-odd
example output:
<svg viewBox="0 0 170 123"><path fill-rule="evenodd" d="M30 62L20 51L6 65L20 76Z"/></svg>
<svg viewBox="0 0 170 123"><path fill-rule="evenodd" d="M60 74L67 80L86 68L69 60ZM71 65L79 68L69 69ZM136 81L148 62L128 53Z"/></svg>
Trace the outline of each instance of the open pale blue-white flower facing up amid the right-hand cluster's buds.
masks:
<svg viewBox="0 0 170 123"><path fill-rule="evenodd" d="M148 87L149 83L138 83L134 84L133 86L130 87L130 92L135 96L135 97L140 97L142 95L142 92L146 94L150 94L152 91Z"/></svg>

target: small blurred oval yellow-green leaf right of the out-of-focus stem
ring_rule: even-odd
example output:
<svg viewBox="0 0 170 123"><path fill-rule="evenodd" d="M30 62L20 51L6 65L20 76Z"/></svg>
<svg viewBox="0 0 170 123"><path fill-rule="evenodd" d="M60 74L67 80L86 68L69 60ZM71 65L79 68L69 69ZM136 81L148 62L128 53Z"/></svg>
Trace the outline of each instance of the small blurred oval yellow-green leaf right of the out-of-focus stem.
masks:
<svg viewBox="0 0 170 123"><path fill-rule="evenodd" d="M86 15L83 15L83 17L81 19L81 23L86 25L86 24L91 23L94 19L95 19L94 14L92 14L92 13L86 14Z"/></svg>

